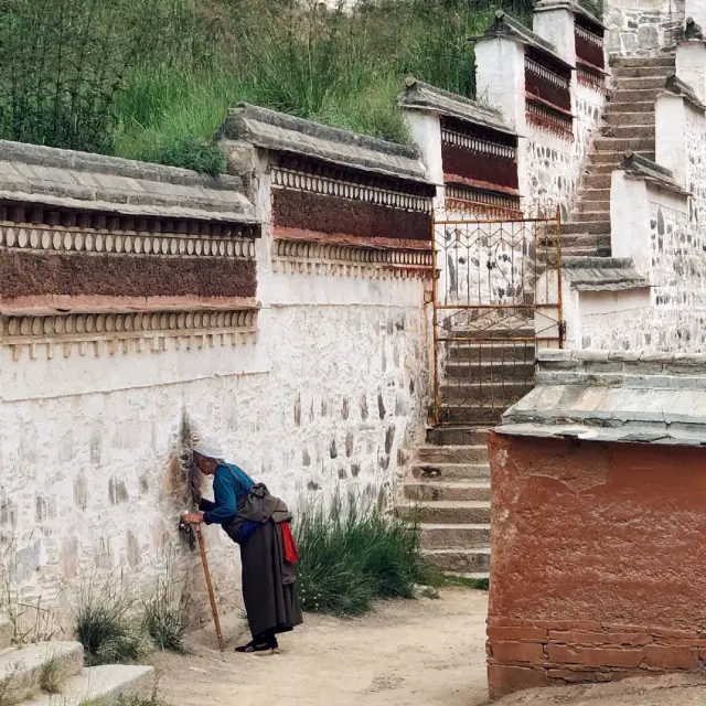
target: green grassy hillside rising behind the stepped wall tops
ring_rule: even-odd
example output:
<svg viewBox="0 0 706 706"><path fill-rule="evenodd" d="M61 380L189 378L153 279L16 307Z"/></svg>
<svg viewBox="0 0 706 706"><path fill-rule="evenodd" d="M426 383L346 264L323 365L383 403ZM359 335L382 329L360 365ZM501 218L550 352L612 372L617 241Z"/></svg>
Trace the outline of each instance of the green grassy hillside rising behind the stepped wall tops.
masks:
<svg viewBox="0 0 706 706"><path fill-rule="evenodd" d="M0 138L217 172L247 100L388 140L407 74L472 96L468 36L532 0L6 0Z"/></svg>

